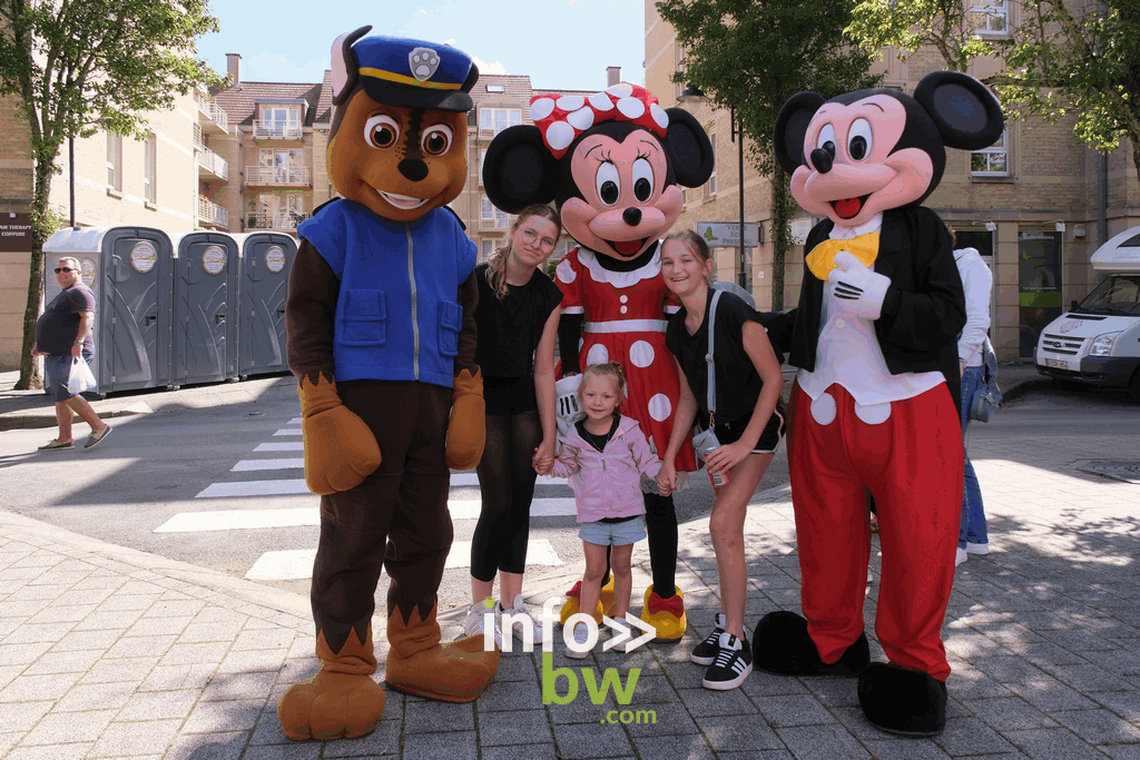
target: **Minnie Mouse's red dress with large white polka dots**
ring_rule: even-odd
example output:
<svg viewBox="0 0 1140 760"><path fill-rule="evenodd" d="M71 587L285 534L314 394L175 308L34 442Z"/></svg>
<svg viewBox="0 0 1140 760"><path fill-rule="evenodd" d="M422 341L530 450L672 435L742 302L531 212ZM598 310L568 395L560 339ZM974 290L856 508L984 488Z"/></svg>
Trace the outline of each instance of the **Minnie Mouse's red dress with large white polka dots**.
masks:
<svg viewBox="0 0 1140 760"><path fill-rule="evenodd" d="M661 277L660 251L629 272L604 269L598 254L576 247L557 265L562 313L583 314L581 366L619 361L629 383L621 414L636 419L657 450L665 452L681 389L665 327L679 305ZM695 472L693 449L681 447L677 472Z"/></svg>

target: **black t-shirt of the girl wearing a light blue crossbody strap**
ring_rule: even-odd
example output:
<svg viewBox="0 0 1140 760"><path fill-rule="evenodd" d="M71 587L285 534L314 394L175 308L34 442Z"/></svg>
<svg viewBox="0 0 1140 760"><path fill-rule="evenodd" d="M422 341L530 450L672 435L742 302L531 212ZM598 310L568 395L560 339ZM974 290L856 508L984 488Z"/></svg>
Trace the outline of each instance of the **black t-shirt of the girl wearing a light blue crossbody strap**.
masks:
<svg viewBox="0 0 1140 760"><path fill-rule="evenodd" d="M665 333L665 345L677 358L681 370L689 381L689 387L697 400L697 408L708 422L708 363L705 354L709 350L709 305L712 291L705 300L705 319L697 333L685 329L686 311L682 308L669 319ZM744 351L744 322L764 326L763 314L732 293L722 293L716 307L716 335L712 356L716 365L716 417L718 423L740 419L752 412L760 397L764 382L752 360ZM776 354L780 361L780 354Z"/></svg>

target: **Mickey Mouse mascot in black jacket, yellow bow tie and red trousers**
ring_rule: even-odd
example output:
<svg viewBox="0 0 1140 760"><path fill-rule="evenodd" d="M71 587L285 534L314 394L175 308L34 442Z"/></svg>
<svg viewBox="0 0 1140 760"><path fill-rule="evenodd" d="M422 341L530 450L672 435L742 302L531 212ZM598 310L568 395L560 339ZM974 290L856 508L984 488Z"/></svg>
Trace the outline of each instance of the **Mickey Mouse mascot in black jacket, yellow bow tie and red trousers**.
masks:
<svg viewBox="0 0 1140 760"><path fill-rule="evenodd" d="M950 234L919 206L945 146L987 147L1001 108L977 80L926 76L913 97L801 92L776 120L791 191L824 221L808 235L791 335L789 464L804 616L774 612L754 662L790 676L857 676L868 720L931 736L946 720L950 665L940 629L962 514L956 340L966 324ZM870 663L863 631L870 532L878 505L882 582Z"/></svg>

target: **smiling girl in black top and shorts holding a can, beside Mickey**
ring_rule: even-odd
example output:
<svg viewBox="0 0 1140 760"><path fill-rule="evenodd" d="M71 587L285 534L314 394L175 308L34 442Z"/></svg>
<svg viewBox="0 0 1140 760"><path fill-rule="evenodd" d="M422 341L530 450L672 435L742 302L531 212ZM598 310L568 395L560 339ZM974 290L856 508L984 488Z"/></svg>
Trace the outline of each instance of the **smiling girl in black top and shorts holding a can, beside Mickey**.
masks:
<svg viewBox="0 0 1140 760"><path fill-rule="evenodd" d="M665 344L677 360L681 400L673 420L673 435L658 475L661 493L676 484L673 457L686 440L693 420L708 426L708 316L714 262L705 240L692 230L675 232L661 248L661 275L666 287L681 299L682 309L669 319ZM716 424L720 447L705 459L709 473L728 476L715 489L709 533L720 575L720 614L709 636L690 659L708 665L703 685L730 689L752 671L752 652L744 638L748 567L744 563L744 515L748 500L767 472L783 439L784 408L780 399L783 374L780 359L759 316L748 304L722 293L714 325L712 357L716 383Z"/></svg>

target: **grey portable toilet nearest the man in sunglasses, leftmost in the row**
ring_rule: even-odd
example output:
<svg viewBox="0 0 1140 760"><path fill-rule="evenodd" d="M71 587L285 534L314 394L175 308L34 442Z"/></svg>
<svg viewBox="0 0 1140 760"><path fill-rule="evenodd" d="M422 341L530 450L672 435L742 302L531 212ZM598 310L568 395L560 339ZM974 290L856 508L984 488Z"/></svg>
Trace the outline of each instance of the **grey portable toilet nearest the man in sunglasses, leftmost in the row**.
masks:
<svg viewBox="0 0 1140 760"><path fill-rule="evenodd" d="M97 393L170 384L173 316L173 248L149 227L72 227L43 244L44 303L59 294L51 275L57 259L79 259L82 280L97 300Z"/></svg>

